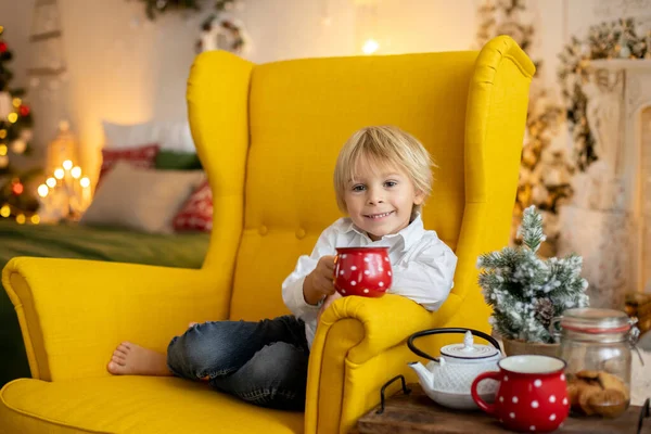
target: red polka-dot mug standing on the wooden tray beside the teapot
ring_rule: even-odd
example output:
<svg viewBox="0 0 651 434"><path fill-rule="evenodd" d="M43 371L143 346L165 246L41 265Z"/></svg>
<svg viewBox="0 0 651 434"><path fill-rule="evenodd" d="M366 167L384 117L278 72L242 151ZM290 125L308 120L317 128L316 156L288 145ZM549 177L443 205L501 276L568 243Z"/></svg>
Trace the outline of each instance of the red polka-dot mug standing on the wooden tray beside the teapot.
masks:
<svg viewBox="0 0 651 434"><path fill-rule="evenodd" d="M498 362L499 372L481 373L470 388L477 406L495 416L509 430L549 432L558 429L570 412L565 361L549 356L511 356ZM483 380L497 380L495 403L478 393Z"/></svg>

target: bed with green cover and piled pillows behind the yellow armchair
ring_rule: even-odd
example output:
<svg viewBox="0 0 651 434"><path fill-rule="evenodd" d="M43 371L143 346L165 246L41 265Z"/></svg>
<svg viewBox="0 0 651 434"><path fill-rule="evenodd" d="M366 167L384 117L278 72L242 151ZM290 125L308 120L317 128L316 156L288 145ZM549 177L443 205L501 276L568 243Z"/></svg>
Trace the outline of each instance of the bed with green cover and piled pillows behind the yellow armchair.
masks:
<svg viewBox="0 0 651 434"><path fill-rule="evenodd" d="M188 120L102 126L99 181L80 221L34 226L0 218L0 270L15 256L201 268L213 200ZM48 215L48 204L39 214ZM0 288L0 386L29 375L16 314Z"/></svg>

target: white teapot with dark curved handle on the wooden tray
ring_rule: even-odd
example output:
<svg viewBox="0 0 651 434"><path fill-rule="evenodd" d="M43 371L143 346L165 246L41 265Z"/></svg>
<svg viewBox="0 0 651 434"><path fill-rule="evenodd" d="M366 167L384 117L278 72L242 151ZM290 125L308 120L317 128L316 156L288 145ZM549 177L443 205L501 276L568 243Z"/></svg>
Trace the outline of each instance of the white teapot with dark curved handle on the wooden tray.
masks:
<svg viewBox="0 0 651 434"><path fill-rule="evenodd" d="M432 357L413 345L417 337L441 333L464 333L465 336L462 344L451 344L441 348L439 358ZM473 334L490 342L494 347L475 344ZM499 344L490 335L477 330L460 328L424 330L409 336L407 345L417 355L432 360L426 366L412 361L409 367L418 374L425 394L445 407L461 410L477 409L470 393L472 382L482 372L499 370L497 367L501 358ZM477 392L482 399L493 403L497 386L494 381L483 381Z"/></svg>

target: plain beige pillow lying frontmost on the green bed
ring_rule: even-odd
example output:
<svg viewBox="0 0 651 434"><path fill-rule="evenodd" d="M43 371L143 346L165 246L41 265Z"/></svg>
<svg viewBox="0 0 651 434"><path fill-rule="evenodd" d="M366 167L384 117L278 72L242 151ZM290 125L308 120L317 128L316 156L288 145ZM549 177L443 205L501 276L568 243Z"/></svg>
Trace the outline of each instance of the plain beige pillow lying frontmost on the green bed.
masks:
<svg viewBox="0 0 651 434"><path fill-rule="evenodd" d="M173 219L205 179L203 170L155 170L118 162L102 179L80 224L173 233Z"/></svg>

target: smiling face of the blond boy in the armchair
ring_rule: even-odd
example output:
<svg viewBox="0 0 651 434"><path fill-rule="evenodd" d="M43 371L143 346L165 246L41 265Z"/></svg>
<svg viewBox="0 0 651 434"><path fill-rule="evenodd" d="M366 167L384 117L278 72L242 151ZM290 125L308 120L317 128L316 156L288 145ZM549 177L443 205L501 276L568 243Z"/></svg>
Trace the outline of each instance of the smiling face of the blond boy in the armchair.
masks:
<svg viewBox="0 0 651 434"><path fill-rule="evenodd" d="M360 158L344 193L353 222L373 241L409 225L414 205L423 203L411 178L392 165L373 165Z"/></svg>

